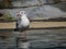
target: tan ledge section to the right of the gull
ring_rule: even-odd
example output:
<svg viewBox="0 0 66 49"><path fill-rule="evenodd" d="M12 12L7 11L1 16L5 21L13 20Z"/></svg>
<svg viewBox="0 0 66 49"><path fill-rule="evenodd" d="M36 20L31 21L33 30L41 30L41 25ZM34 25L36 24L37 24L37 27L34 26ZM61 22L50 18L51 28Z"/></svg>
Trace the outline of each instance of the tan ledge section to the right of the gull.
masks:
<svg viewBox="0 0 66 49"><path fill-rule="evenodd" d="M66 27L66 22L31 22L30 28Z"/></svg>

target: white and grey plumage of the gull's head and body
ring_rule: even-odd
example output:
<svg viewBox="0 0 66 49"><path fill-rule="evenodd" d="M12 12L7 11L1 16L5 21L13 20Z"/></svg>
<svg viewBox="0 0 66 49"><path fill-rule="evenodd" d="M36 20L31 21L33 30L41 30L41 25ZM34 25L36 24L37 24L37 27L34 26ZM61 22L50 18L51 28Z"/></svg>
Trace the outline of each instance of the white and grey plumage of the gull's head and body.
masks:
<svg viewBox="0 0 66 49"><path fill-rule="evenodd" d="M22 15L19 20L18 20L18 27L19 28L22 28L22 27L26 27L30 25L30 21L29 19L26 17L26 14L21 11L20 14Z"/></svg>

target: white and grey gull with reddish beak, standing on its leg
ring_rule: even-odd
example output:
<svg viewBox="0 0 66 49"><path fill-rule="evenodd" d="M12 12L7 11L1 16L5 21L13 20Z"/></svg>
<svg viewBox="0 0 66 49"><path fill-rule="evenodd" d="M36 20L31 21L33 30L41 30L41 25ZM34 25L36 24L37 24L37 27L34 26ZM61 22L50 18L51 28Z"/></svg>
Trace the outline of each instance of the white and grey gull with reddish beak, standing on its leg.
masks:
<svg viewBox="0 0 66 49"><path fill-rule="evenodd" d="M16 21L16 28L20 33L24 33L24 40L26 40L26 30L29 29L30 26L30 20L26 16L25 11L20 11Z"/></svg>

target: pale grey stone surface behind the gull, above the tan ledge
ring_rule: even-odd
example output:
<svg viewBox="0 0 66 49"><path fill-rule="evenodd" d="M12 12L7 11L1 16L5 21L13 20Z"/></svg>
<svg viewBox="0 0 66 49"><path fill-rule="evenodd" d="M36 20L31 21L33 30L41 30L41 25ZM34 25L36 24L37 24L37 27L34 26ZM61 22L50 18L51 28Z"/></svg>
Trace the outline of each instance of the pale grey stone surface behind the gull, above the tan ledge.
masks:
<svg viewBox="0 0 66 49"><path fill-rule="evenodd" d="M37 7L36 4L41 3L52 3L52 4L43 4L42 7ZM13 1L12 5L14 7L25 7L28 5L29 8L19 8L19 9L3 9L0 10L1 13L10 13L12 16L16 16L18 12L20 10L26 11L26 14L29 17L62 17L66 16L66 3L53 3L53 0L26 0L24 1ZM30 7L30 5L35 5L35 7Z"/></svg>

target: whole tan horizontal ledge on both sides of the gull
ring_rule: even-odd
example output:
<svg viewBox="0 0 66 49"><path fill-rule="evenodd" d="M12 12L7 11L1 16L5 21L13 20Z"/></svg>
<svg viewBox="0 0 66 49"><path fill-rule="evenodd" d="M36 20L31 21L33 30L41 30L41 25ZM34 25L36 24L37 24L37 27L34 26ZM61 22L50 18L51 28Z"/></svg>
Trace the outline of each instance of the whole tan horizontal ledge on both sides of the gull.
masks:
<svg viewBox="0 0 66 49"><path fill-rule="evenodd" d="M31 28L65 28L66 22L31 22ZM0 23L0 30L12 30L16 28L16 22Z"/></svg>

